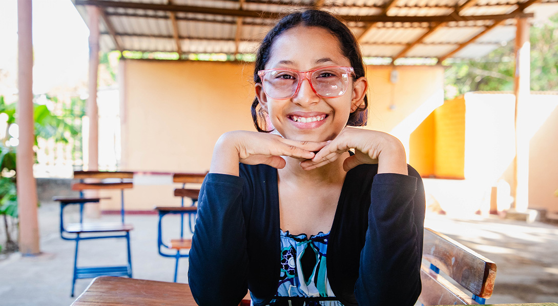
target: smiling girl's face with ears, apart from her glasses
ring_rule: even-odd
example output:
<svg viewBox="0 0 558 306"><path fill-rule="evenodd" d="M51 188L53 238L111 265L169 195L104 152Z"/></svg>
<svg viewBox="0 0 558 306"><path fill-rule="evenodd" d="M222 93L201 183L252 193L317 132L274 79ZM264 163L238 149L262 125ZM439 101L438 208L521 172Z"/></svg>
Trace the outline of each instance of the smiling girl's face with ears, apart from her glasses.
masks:
<svg viewBox="0 0 558 306"><path fill-rule="evenodd" d="M309 71L327 66L350 66L349 59L341 52L339 40L321 27L296 26L286 30L273 42L270 55L265 69ZM350 112L363 103L367 87L364 77L354 80L351 76L343 95L323 98L314 92L309 80L304 79L292 98L268 97L261 83L256 84L256 95L269 114L271 124L283 137L319 142L332 140L343 130Z"/></svg>

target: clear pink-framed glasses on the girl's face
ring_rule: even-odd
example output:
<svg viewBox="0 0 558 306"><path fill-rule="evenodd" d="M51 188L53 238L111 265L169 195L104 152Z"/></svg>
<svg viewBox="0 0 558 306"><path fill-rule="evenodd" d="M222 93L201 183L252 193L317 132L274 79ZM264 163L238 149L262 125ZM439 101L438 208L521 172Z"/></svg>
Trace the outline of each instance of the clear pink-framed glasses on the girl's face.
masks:
<svg viewBox="0 0 558 306"><path fill-rule="evenodd" d="M330 66L310 71L292 69L259 70L263 92L273 99L290 99L299 92L302 80L307 79L310 87L323 98L336 98L349 87L349 76L353 67Z"/></svg>

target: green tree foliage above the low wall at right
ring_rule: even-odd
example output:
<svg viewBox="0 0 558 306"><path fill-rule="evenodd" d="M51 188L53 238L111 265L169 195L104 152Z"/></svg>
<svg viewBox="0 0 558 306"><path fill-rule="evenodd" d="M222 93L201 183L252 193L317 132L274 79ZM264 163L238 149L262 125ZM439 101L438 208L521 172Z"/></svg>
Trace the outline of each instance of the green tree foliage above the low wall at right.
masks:
<svg viewBox="0 0 558 306"><path fill-rule="evenodd" d="M558 14L530 30L531 90L558 90ZM446 99L471 91L511 91L513 41L482 59L457 60L445 71ZM448 65L448 63L444 63Z"/></svg>

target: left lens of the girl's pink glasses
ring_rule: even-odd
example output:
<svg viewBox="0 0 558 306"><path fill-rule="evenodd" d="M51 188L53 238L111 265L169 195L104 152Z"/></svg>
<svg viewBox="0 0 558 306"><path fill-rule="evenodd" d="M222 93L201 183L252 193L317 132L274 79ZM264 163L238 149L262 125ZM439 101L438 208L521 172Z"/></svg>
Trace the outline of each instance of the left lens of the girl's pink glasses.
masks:
<svg viewBox="0 0 558 306"><path fill-rule="evenodd" d="M273 99L291 97L298 85L297 74L288 70L272 70L263 75L263 91Z"/></svg>

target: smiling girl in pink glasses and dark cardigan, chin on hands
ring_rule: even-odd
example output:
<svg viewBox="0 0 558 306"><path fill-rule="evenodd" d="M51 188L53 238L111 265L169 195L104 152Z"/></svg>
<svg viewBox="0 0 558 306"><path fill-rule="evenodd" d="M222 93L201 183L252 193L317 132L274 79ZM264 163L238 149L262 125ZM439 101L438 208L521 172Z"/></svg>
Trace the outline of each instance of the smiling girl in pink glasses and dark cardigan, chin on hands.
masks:
<svg viewBox="0 0 558 306"><path fill-rule="evenodd" d="M219 138L200 191L189 283L200 305L414 305L425 196L400 141L363 125L349 28L284 17L256 58L259 132ZM271 133L267 133L270 132Z"/></svg>

